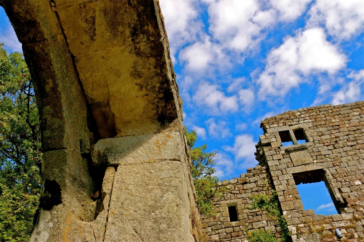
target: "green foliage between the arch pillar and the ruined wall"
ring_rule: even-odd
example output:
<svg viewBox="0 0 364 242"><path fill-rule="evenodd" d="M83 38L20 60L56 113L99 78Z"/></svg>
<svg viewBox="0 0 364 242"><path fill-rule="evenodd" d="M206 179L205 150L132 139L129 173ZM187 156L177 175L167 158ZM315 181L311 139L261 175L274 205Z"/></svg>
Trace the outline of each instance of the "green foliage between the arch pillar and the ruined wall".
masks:
<svg viewBox="0 0 364 242"><path fill-rule="evenodd" d="M187 145L190 148L189 154L192 162L192 178L197 196L197 206L200 214L207 216L213 215L212 202L214 197L221 195L216 189L218 178L214 176L215 168L213 168L214 158L217 156L215 152L205 152L207 145L194 147L197 139L197 134L194 130L190 132L184 127L184 132L187 138Z"/></svg>

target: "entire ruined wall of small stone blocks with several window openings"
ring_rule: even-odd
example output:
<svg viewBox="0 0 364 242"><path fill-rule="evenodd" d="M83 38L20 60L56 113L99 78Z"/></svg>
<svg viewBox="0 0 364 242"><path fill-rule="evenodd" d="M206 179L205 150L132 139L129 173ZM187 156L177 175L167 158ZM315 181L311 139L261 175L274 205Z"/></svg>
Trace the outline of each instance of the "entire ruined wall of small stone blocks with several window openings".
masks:
<svg viewBox="0 0 364 242"><path fill-rule="evenodd" d="M279 226L264 211L248 209L251 195L270 195L272 189L293 242L364 241L364 102L289 111L266 118L261 127L264 134L255 153L259 165L218 184L226 190L215 198L215 216L202 220L207 241L244 242L247 231L256 229L279 238ZM282 145L288 141L290 145ZM320 181L337 214L304 209L296 185ZM236 222L230 222L231 206ZM340 229L341 240L335 229Z"/></svg>

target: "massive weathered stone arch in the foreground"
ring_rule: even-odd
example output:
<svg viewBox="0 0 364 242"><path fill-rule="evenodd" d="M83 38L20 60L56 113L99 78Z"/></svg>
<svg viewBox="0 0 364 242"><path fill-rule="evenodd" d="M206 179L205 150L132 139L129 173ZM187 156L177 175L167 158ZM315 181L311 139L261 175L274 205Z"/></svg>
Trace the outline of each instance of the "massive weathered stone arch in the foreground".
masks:
<svg viewBox="0 0 364 242"><path fill-rule="evenodd" d="M158 0L2 0L42 136L31 242L198 241Z"/></svg>

